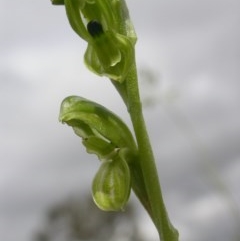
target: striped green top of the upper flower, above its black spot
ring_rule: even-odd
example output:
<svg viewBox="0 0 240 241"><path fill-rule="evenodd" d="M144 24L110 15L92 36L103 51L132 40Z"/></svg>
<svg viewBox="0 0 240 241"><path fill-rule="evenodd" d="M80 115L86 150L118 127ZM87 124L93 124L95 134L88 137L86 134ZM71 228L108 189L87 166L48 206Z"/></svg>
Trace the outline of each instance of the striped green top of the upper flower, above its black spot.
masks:
<svg viewBox="0 0 240 241"><path fill-rule="evenodd" d="M124 0L52 0L65 3L67 16L74 31L82 37L84 23L97 20L105 30L129 37L133 44L137 37ZM84 38L85 39L85 38Z"/></svg>

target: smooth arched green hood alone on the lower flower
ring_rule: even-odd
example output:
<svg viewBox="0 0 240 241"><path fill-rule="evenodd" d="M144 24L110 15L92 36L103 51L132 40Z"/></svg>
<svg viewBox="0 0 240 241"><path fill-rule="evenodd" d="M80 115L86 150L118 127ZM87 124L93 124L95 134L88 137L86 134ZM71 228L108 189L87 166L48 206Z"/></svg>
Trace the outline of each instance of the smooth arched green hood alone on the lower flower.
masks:
<svg viewBox="0 0 240 241"><path fill-rule="evenodd" d="M78 96L63 100L59 120L74 128L83 138L91 135L105 138L117 148L137 150L134 138L125 123L105 107Z"/></svg>

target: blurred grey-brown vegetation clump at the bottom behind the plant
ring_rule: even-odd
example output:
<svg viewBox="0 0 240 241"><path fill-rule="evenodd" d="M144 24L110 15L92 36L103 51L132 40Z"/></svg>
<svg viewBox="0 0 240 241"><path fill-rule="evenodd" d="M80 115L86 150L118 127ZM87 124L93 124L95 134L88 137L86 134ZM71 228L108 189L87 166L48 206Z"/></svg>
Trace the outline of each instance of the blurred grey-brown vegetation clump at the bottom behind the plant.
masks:
<svg viewBox="0 0 240 241"><path fill-rule="evenodd" d="M143 241L133 205L103 212L90 196L68 198L50 208L33 241Z"/></svg>

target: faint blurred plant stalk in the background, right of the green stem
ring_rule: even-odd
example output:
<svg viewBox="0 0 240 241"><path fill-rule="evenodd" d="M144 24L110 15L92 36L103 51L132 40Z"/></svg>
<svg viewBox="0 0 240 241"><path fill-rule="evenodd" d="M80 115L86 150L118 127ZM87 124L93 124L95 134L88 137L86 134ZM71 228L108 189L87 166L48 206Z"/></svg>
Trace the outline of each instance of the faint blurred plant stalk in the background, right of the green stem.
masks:
<svg viewBox="0 0 240 241"><path fill-rule="evenodd" d="M153 108L161 104L162 111L164 111L171 121L173 121L177 129L179 129L191 143L191 146L199 156L199 161L196 162L196 166L199 167L199 170L204 175L203 178L206 180L206 185L212 185L212 191L225 201L229 215L232 217L232 227L234 231L229 240L239 241L240 210L238 203L234 199L234 195L230 190L231 188L228 187L218 169L217 158L214 156L214 153L212 153L211 147L202 142L191 120L175 105L178 98L181 98L180 91L174 87L168 87L159 93L159 90L161 90L161 88L163 89L161 76L159 76L155 70L148 67L139 69L139 80L142 90L143 107ZM161 85L160 88L159 85Z"/></svg>

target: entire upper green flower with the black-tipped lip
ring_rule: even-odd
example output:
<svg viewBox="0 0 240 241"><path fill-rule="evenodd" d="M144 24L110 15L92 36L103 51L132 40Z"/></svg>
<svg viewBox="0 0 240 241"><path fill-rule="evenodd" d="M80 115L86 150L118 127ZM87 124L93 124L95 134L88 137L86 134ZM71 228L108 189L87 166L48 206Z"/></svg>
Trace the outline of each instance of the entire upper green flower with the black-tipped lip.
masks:
<svg viewBox="0 0 240 241"><path fill-rule="evenodd" d="M53 0L59 4L59 0ZM60 1L61 4L61 1ZM136 34L123 0L65 0L73 30L88 42L86 66L123 82L134 62Z"/></svg>

